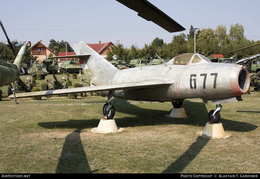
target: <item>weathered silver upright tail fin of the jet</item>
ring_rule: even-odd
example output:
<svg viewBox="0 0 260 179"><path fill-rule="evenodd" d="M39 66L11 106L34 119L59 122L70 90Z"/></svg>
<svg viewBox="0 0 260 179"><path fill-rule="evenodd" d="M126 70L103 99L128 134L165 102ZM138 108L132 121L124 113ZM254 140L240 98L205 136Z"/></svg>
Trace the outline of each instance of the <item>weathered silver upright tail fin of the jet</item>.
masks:
<svg viewBox="0 0 260 179"><path fill-rule="evenodd" d="M90 78L95 75L119 70L82 41L75 43L73 49L76 55L90 54L90 56L79 59L81 68Z"/></svg>

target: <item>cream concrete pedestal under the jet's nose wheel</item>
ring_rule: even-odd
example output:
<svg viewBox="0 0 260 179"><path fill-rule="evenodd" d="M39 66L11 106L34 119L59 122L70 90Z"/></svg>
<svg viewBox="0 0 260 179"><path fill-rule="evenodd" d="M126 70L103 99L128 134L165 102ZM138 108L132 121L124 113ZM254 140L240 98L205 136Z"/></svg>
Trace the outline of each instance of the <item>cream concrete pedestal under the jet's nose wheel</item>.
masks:
<svg viewBox="0 0 260 179"><path fill-rule="evenodd" d="M210 122L207 122L202 134L216 138L226 136L223 125L220 122L215 124L210 124Z"/></svg>

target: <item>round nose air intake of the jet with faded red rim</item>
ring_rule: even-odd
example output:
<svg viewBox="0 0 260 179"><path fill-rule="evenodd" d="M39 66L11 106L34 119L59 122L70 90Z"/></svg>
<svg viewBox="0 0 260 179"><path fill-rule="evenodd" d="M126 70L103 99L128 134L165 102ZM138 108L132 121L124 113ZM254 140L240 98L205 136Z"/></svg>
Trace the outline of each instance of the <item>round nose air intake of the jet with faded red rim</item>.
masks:
<svg viewBox="0 0 260 179"><path fill-rule="evenodd" d="M250 85L248 71L242 67L233 67L233 72L230 74L230 88L235 96L245 94Z"/></svg>

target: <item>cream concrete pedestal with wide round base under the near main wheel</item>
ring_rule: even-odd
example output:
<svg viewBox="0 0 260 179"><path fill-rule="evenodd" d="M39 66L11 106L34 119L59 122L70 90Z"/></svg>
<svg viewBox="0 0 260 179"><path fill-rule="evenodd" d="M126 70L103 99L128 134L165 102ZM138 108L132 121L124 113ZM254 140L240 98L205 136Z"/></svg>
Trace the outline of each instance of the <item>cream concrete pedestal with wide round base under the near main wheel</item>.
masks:
<svg viewBox="0 0 260 179"><path fill-rule="evenodd" d="M110 132L120 132L124 130L123 128L117 127L114 119L101 119L99 125L91 129L94 133L110 133Z"/></svg>

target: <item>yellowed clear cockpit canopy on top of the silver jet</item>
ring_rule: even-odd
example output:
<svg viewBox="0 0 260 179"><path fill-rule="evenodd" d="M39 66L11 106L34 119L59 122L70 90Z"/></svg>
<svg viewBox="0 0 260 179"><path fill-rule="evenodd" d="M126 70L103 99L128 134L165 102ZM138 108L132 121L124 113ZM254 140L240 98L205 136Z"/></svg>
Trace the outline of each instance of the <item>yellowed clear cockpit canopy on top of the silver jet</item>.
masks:
<svg viewBox="0 0 260 179"><path fill-rule="evenodd" d="M211 63L211 61L200 54L181 54L171 59L167 64L169 65L187 65L189 63Z"/></svg>

